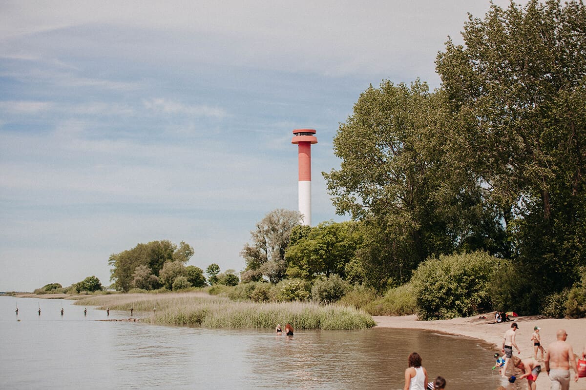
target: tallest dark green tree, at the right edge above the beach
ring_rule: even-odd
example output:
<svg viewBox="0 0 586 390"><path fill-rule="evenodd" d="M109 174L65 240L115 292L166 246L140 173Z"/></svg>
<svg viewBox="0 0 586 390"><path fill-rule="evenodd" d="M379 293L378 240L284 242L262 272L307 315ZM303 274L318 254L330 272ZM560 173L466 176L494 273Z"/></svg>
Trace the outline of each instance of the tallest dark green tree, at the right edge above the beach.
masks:
<svg viewBox="0 0 586 390"><path fill-rule="evenodd" d="M586 264L586 9L492 5L462 36L437 57L454 134L476 156L471 167L539 302Z"/></svg>

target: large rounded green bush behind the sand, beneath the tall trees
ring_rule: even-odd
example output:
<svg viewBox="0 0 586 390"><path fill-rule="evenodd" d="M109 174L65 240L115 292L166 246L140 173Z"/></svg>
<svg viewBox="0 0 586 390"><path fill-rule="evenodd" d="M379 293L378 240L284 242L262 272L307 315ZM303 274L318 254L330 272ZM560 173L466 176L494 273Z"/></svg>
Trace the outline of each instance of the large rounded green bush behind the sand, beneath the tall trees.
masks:
<svg viewBox="0 0 586 390"><path fill-rule="evenodd" d="M507 260L485 252L452 254L426 260L411 282L420 319L467 317L492 310L489 286Z"/></svg>

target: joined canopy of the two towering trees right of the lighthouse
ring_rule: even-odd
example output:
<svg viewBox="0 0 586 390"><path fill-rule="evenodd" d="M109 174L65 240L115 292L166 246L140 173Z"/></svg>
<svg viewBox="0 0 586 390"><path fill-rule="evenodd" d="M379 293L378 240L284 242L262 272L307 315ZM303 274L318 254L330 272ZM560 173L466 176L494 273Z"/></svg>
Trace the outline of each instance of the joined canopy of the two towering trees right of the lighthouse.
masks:
<svg viewBox="0 0 586 390"><path fill-rule="evenodd" d="M336 212L363 222L350 276L380 291L481 250L512 260L535 312L586 265L586 10L491 5L462 37L438 53L440 88L370 86L339 127L324 176Z"/></svg>

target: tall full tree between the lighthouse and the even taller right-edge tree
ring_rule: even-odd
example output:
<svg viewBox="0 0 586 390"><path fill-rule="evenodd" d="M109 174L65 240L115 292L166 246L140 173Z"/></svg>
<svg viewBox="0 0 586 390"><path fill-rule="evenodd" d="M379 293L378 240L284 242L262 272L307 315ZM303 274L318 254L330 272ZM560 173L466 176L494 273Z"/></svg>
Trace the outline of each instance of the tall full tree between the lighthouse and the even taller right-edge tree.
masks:
<svg viewBox="0 0 586 390"><path fill-rule="evenodd" d="M498 233L494 210L482 206L476 178L458 159L448 108L424 82L383 81L360 95L336 134L340 169L323 175L336 212L364 221L370 242L357 258L376 288L407 281L429 256L485 249Z"/></svg>

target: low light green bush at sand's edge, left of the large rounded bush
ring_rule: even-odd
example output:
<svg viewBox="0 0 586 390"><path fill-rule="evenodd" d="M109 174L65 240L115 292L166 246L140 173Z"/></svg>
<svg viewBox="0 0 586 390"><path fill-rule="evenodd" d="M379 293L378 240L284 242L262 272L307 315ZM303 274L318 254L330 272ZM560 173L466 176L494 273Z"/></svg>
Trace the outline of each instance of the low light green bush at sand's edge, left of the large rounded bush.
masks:
<svg viewBox="0 0 586 390"><path fill-rule="evenodd" d="M373 316L406 316L417 312L417 299L410 283L391 288L384 296L362 308Z"/></svg>

